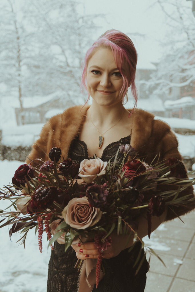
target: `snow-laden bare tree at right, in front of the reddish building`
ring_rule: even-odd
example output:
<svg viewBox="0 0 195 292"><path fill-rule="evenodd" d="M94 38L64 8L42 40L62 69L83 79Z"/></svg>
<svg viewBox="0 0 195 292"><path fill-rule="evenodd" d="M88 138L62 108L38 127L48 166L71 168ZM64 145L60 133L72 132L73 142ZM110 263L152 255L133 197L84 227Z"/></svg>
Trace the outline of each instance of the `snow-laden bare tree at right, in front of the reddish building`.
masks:
<svg viewBox="0 0 195 292"><path fill-rule="evenodd" d="M193 95L195 85L195 18L186 0L158 0L169 26L166 39L161 40L162 58L156 72L146 83L153 95L178 99ZM183 94L182 94L183 92Z"/></svg>

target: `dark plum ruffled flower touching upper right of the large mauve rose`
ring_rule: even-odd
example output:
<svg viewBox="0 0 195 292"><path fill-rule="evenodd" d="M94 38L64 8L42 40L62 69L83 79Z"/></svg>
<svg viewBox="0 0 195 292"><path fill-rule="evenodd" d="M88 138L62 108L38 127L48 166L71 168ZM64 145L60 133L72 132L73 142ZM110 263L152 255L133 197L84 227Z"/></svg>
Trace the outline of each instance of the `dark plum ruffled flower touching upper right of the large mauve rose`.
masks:
<svg viewBox="0 0 195 292"><path fill-rule="evenodd" d="M100 208L107 204L108 190L103 185L94 184L89 186L86 190L86 197L88 198L89 204L95 208Z"/></svg>

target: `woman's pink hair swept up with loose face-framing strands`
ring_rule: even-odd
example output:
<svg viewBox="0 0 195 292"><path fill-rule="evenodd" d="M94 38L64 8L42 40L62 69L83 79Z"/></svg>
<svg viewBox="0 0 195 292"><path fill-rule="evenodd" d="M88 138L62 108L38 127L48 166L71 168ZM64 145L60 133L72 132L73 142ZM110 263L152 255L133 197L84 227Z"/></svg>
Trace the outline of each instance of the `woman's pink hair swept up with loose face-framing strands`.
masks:
<svg viewBox="0 0 195 292"><path fill-rule="evenodd" d="M135 105L137 105L137 88L135 86L135 72L137 64L137 51L134 47L132 40L124 33L119 30L111 29L107 30L103 35L101 35L97 41L87 50L85 58L82 62L82 79L81 79L81 88L84 87L87 90L85 84L86 72L87 72L87 63L92 56L93 51L99 47L109 47L112 50L114 60L118 67L120 74L122 75L123 85L120 91L120 97L124 99L125 94L128 89L129 82L131 83L132 95L135 99ZM128 77L125 76L122 72L122 65L127 64L128 66ZM89 99L89 94L88 94ZM87 99L87 100L88 100Z"/></svg>

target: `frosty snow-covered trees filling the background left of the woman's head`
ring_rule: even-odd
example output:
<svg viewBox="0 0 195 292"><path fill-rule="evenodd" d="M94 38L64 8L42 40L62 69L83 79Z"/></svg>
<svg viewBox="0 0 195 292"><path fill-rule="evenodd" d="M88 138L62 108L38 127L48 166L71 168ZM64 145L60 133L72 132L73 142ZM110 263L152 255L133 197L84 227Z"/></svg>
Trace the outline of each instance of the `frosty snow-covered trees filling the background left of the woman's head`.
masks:
<svg viewBox="0 0 195 292"><path fill-rule="evenodd" d="M0 96L18 97L21 112L23 99L34 95L80 103L80 65L97 17L74 0L2 0Z"/></svg>

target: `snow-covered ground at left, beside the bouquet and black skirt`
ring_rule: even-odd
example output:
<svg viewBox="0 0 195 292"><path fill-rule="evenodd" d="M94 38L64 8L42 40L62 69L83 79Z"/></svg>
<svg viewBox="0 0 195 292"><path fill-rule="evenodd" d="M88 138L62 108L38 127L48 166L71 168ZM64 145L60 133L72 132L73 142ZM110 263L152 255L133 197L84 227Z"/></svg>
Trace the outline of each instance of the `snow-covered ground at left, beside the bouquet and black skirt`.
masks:
<svg viewBox="0 0 195 292"><path fill-rule="evenodd" d="M0 188L9 184L20 161L0 161ZM0 201L0 208L5 208L6 201ZM50 250L47 250L46 237L43 238L43 253L39 253L38 239L34 230L30 230L25 249L16 243L19 234L13 234L10 241L8 227L1 232L1 272L0 292L46 292L47 270Z"/></svg>

